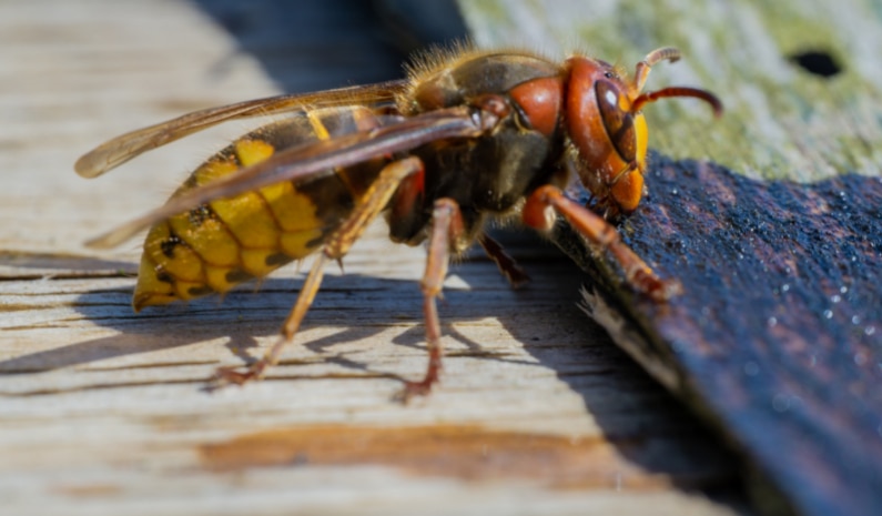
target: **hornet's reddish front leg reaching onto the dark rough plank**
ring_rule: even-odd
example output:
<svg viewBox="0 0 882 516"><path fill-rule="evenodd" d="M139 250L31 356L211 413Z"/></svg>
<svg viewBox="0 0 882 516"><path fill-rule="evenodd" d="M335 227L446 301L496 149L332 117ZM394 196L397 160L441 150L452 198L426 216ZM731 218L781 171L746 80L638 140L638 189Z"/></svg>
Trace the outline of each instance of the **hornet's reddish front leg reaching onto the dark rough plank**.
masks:
<svg viewBox="0 0 882 516"><path fill-rule="evenodd" d="M661 280L640 256L621 242L621 236L615 227L590 210L565 196L557 186L545 185L533 192L524 205L523 217L531 227L548 230L554 225L555 212L564 215L579 234L600 245L605 251L609 251L625 272L625 281L636 291L656 301L666 301L680 293L681 287L678 282Z"/></svg>

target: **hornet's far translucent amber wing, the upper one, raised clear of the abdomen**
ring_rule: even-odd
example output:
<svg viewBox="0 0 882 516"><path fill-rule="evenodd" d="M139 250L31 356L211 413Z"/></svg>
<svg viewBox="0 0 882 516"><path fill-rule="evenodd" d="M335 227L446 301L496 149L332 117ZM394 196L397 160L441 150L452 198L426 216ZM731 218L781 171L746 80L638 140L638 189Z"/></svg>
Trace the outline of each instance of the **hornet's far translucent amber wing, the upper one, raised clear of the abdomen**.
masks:
<svg viewBox="0 0 882 516"><path fill-rule="evenodd" d="M405 80L388 81L316 93L268 97L195 111L116 136L80 158L73 168L83 178L97 178L139 154L229 120L300 111L306 107L393 105L406 87Z"/></svg>

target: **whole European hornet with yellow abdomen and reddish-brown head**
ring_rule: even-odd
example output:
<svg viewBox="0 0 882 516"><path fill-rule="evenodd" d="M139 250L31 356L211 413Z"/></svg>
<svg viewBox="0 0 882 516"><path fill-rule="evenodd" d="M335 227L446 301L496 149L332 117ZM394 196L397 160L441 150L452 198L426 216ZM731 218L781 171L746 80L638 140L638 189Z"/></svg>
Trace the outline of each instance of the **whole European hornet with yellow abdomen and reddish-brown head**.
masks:
<svg viewBox="0 0 882 516"><path fill-rule="evenodd" d="M262 277L321 251L277 342L244 371L217 380L242 384L275 364L310 308L330 260L341 261L365 227L385 214L395 242L427 241L424 295L428 368L405 396L426 394L442 368L435 300L452 255L474 242L517 286L524 271L486 233L519 219L550 230L558 215L621 266L637 292L662 302L678 283L660 279L604 216L568 199L577 175L607 209L632 212L643 194L647 125L641 108L692 97L722 110L711 93L665 88L641 93L671 48L650 52L627 79L607 62L562 63L528 52L457 51L424 58L405 80L287 94L196 111L115 138L82 156L94 178L211 125L288 113L210 158L165 205L89 242L120 244L150 227L134 291L135 311L187 301Z"/></svg>

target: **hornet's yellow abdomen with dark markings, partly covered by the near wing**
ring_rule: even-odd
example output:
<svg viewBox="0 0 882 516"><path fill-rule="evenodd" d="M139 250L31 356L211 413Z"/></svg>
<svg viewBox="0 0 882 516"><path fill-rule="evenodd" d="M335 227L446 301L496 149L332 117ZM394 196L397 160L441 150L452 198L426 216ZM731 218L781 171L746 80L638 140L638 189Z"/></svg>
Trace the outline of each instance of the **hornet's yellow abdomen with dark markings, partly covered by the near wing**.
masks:
<svg viewBox="0 0 882 516"><path fill-rule="evenodd" d="M376 123L367 109L351 107L266 125L209 159L174 195L266 160L277 150ZM144 241L134 310L224 293L315 252L378 170L369 163L296 186L284 181L195 206L154 225Z"/></svg>

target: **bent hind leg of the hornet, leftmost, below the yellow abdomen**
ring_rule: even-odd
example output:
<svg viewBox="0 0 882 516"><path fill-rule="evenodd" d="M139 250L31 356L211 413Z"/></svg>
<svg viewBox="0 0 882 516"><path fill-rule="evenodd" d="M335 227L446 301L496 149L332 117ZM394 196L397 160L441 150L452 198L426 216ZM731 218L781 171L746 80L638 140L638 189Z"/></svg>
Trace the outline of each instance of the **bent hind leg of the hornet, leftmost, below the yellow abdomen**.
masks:
<svg viewBox="0 0 882 516"><path fill-rule="evenodd" d="M313 304L315 294L318 292L318 286L322 284L324 266L327 261L342 260L349 247L352 247L352 244L358 240L367 225L376 219L377 214L379 214L386 203L388 203L402 180L422 171L423 162L418 158L407 158L405 160L392 162L381 171L379 176L367 192L365 192L362 202L355 206L349 217L328 236L324 250L315 259L315 263L303 284L303 290L300 296L297 296L297 302L285 320L282 326L282 334L278 336L275 344L273 344L273 347L271 347L261 360L251 364L244 372L235 371L235 367L219 368L215 374L216 380L241 385L251 380L260 380L263 377L267 367L278 362L282 348L294 340L294 335L297 333L303 317L306 316L306 312Z"/></svg>

